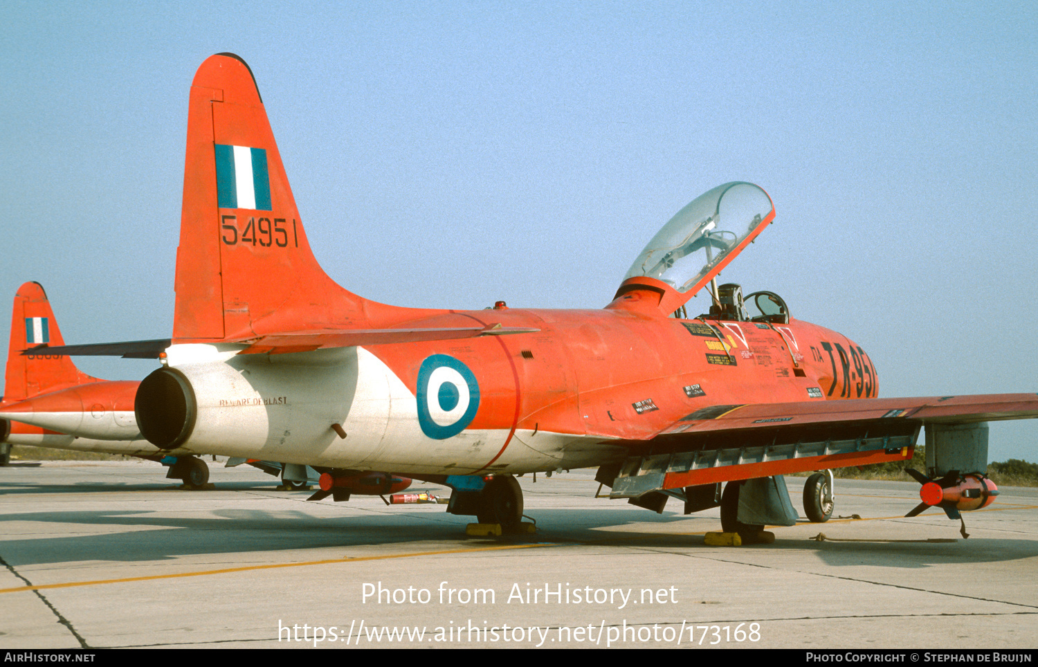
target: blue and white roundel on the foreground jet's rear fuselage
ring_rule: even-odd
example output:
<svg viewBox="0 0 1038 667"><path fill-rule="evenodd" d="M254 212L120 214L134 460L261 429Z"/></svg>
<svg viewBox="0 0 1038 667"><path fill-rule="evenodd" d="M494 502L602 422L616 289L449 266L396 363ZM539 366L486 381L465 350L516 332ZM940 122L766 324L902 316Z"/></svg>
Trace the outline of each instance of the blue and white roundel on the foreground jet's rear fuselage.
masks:
<svg viewBox="0 0 1038 667"><path fill-rule="evenodd" d="M447 355L432 355L418 368L418 425L434 440L457 436L480 408L480 384L468 366Z"/></svg>

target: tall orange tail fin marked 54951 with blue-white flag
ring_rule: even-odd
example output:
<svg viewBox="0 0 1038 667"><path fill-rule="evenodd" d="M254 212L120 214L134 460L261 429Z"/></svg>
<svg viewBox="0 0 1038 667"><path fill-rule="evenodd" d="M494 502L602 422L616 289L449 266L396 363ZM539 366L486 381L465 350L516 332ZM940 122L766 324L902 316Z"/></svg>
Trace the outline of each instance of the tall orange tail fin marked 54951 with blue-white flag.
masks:
<svg viewBox="0 0 1038 667"><path fill-rule="evenodd" d="M191 84L173 342L372 326L390 306L310 251L252 72L229 53Z"/></svg>

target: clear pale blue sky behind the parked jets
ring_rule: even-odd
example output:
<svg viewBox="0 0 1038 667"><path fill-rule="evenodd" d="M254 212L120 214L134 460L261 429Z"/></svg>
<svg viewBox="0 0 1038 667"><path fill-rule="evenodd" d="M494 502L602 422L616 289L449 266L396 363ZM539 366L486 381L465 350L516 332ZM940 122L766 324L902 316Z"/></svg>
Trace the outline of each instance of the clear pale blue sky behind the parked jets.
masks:
<svg viewBox="0 0 1038 667"><path fill-rule="evenodd" d="M230 51L367 298L602 306L750 180L776 221L725 281L856 340L882 395L1036 391L1036 34L1033 2L8 1L0 303L37 280L70 342L169 335L188 87ZM1038 460L1038 422L991 457Z"/></svg>

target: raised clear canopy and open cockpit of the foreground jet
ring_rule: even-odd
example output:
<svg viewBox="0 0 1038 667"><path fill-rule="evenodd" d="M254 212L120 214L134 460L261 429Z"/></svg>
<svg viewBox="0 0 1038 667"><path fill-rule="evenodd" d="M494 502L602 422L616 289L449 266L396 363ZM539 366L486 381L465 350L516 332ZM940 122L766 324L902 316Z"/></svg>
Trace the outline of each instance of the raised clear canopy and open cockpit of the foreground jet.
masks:
<svg viewBox="0 0 1038 667"><path fill-rule="evenodd" d="M714 279L774 219L764 190L752 183L727 183L696 197L656 233L624 277L610 307L672 313L711 283L712 311L732 319L789 319L786 304L773 293L741 288L722 303ZM735 285L738 287L738 285ZM773 299L772 299L773 297ZM736 299L738 302L736 302Z"/></svg>

